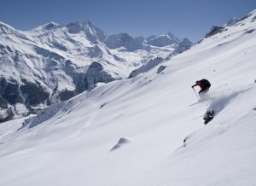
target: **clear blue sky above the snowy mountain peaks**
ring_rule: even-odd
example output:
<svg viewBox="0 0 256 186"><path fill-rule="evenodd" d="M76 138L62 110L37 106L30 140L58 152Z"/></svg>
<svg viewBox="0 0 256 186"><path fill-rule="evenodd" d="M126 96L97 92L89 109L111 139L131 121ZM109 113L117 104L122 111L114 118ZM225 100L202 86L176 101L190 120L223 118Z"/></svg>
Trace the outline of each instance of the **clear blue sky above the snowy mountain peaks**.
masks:
<svg viewBox="0 0 256 186"><path fill-rule="evenodd" d="M172 32L192 41L256 9L255 0L1 0L0 21L29 30L55 21L90 20L107 34L131 36Z"/></svg>

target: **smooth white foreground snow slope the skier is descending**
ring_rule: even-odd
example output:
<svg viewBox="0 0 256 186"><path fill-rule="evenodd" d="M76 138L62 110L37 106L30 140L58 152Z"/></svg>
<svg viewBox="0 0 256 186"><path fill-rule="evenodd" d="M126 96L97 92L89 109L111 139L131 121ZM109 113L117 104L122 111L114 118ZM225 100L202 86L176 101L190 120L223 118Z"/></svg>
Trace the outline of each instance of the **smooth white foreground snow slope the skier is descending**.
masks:
<svg viewBox="0 0 256 186"><path fill-rule="evenodd" d="M0 185L255 185L255 17L165 61L161 73L97 84L19 131L6 127ZM212 87L193 104L200 78ZM208 109L217 114L203 125Z"/></svg>

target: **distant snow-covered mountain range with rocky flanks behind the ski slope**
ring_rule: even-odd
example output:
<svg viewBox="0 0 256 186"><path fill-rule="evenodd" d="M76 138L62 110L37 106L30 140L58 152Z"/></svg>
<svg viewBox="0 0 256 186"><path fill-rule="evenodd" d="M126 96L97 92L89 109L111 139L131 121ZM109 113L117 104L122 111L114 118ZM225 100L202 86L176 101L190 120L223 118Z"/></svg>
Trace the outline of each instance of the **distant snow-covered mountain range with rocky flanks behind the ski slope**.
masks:
<svg viewBox="0 0 256 186"><path fill-rule="evenodd" d="M51 22L27 32L0 22L0 38L0 122L66 101L98 82L127 78L145 62L185 49L174 36L175 44L158 47L126 33L108 36L90 21Z"/></svg>

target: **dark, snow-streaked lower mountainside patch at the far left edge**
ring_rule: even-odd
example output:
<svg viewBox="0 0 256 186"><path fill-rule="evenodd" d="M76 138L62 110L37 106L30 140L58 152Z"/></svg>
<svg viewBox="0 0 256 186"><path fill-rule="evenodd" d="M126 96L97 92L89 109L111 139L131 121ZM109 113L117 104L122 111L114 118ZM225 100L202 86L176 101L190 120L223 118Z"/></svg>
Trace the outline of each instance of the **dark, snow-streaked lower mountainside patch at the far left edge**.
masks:
<svg viewBox="0 0 256 186"><path fill-rule="evenodd" d="M22 79L18 82L14 78L0 78L0 122L11 119L15 113L26 115L28 110L33 113L31 107L44 103L48 97L49 92L37 81L32 83Z"/></svg>

